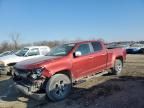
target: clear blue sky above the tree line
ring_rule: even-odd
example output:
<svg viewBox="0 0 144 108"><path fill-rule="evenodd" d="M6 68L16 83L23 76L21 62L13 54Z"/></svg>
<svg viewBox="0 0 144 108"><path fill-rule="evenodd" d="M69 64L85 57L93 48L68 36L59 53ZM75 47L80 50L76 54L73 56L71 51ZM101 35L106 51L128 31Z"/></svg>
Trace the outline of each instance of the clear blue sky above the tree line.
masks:
<svg viewBox="0 0 144 108"><path fill-rule="evenodd" d="M0 0L0 42L144 40L144 0Z"/></svg>

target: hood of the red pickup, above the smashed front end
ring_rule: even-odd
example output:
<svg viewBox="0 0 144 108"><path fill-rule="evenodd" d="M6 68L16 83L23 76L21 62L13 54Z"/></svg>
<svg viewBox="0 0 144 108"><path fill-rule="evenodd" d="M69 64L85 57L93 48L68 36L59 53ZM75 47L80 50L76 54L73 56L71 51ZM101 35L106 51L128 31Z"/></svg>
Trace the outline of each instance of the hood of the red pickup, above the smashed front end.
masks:
<svg viewBox="0 0 144 108"><path fill-rule="evenodd" d="M15 67L19 69L33 69L62 56L43 56L18 62Z"/></svg>

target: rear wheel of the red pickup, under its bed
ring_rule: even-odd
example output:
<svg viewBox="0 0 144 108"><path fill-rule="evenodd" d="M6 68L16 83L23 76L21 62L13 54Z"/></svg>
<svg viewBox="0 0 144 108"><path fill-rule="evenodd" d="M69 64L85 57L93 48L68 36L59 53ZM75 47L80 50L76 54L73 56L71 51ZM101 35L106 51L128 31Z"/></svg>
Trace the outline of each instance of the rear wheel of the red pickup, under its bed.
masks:
<svg viewBox="0 0 144 108"><path fill-rule="evenodd" d="M120 59L116 59L114 63L114 67L112 69L112 74L119 75L121 74L123 69L123 62Z"/></svg>

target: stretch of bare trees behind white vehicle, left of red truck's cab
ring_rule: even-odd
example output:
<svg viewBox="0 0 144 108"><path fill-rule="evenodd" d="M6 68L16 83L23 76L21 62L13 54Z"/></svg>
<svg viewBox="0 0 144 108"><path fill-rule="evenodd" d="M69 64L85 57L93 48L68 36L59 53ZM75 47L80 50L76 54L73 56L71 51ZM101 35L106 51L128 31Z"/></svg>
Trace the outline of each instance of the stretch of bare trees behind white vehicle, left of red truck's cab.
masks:
<svg viewBox="0 0 144 108"><path fill-rule="evenodd" d="M80 39L79 39L80 40ZM74 40L77 41L77 40ZM9 41L3 41L0 43L0 53L4 51L17 51L26 46L49 46L50 48L57 45L67 43L70 41L66 40L53 40L53 41L37 41L32 43L21 43L20 34L15 33L10 35Z"/></svg>

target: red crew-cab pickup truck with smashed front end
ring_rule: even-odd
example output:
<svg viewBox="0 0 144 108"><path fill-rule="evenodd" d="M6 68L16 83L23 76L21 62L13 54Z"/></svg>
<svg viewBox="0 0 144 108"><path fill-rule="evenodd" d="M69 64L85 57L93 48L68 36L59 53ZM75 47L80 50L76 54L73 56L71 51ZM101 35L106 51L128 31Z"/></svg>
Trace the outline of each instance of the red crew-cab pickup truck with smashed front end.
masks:
<svg viewBox="0 0 144 108"><path fill-rule="evenodd" d="M111 69L120 74L126 51L108 49L101 41L83 41L53 48L45 57L29 59L14 66L15 87L26 95L45 93L59 101L70 93L74 81Z"/></svg>

